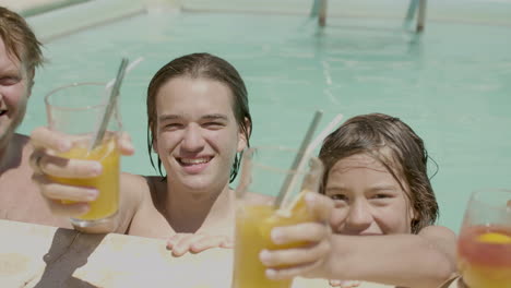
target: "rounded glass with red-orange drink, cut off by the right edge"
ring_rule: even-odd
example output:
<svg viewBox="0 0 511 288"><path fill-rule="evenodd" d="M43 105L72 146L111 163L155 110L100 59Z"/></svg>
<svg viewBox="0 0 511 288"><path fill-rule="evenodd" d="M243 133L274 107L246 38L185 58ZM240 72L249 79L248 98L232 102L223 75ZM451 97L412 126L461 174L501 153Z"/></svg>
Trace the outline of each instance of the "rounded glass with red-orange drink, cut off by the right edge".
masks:
<svg viewBox="0 0 511 288"><path fill-rule="evenodd" d="M470 288L511 287L511 191L472 193L457 240L457 266Z"/></svg>

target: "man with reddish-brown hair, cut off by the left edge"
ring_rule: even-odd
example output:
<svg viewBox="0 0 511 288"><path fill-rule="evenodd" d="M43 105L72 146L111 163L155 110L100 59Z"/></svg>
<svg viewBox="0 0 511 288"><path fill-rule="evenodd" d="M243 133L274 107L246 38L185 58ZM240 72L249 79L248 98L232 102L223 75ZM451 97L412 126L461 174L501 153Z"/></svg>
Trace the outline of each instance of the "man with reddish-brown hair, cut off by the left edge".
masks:
<svg viewBox="0 0 511 288"><path fill-rule="evenodd" d="M15 133L25 116L40 43L16 13L0 7L0 219L70 227L40 200L28 158L33 146Z"/></svg>

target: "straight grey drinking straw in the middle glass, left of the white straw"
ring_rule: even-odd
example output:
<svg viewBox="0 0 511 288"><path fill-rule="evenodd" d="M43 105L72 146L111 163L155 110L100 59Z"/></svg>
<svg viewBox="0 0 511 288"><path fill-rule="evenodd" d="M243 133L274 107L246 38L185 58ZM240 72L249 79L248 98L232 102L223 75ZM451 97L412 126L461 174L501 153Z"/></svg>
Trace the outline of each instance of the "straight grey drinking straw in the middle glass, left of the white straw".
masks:
<svg viewBox="0 0 511 288"><path fill-rule="evenodd" d="M295 171L298 168L299 164L302 161L305 152L309 146L310 140L314 134L316 128L319 124L321 116L323 116L323 112L317 110L314 117L312 118L312 121L309 124L309 129L307 130L307 133L304 140L301 141L300 148L298 149L298 153L296 154L295 159L293 160L289 171ZM276 196L275 202L273 203L273 206L275 208L280 208L283 203L283 200L286 197L287 194L289 194L289 190L292 190L290 183L293 182L294 178L296 178L296 173L290 172L287 175L286 179L284 180L284 183L282 184L281 191L278 192L278 195Z"/></svg>

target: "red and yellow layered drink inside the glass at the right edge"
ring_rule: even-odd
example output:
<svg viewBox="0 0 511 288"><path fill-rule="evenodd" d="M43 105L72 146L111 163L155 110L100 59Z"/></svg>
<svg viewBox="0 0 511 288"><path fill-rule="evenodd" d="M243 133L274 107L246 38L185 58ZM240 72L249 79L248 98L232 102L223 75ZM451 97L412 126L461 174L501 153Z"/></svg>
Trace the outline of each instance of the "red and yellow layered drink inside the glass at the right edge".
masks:
<svg viewBox="0 0 511 288"><path fill-rule="evenodd" d="M457 263L470 288L510 288L511 228L465 227L459 239Z"/></svg>

